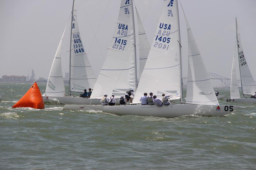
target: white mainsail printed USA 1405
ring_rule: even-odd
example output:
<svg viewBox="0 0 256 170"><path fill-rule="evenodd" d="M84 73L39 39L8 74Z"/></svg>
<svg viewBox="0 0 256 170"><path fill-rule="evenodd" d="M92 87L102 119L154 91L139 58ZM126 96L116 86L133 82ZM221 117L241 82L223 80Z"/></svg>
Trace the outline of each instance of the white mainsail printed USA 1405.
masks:
<svg viewBox="0 0 256 170"><path fill-rule="evenodd" d="M140 77L133 102L139 103L144 92L180 99L180 62L177 1L164 1L154 41Z"/></svg>

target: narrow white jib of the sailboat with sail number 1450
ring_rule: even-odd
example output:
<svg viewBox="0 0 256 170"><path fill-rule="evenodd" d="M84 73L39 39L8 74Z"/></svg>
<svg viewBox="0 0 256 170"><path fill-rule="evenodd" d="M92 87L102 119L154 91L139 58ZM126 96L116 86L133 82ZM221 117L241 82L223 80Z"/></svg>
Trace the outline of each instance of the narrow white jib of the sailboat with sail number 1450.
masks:
<svg viewBox="0 0 256 170"><path fill-rule="evenodd" d="M239 99L240 93L237 85L236 79L236 47L234 50L234 57L233 57L233 65L232 65L232 72L231 72L231 85L230 85L230 98L231 99Z"/></svg>

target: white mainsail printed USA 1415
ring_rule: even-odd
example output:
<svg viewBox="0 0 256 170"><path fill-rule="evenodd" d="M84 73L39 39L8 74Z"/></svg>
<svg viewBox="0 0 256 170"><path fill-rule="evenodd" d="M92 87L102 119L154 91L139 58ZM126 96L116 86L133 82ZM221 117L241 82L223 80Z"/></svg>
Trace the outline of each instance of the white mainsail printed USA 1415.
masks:
<svg viewBox="0 0 256 170"><path fill-rule="evenodd" d="M104 93L116 98L131 88L135 90L135 57L132 25L132 2L122 0L115 33L100 70L92 98Z"/></svg>

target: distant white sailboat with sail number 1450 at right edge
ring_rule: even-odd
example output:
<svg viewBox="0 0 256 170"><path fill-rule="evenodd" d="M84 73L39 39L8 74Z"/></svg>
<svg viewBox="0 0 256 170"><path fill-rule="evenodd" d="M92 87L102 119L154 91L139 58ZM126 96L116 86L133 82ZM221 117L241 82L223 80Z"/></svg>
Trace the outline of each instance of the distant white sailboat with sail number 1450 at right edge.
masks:
<svg viewBox="0 0 256 170"><path fill-rule="evenodd" d="M256 104L255 98L245 98L245 95L252 95L254 94L254 92L256 92L256 84L253 80L248 63L246 62L246 59L245 59L245 54L243 51L243 46L242 46L241 36L238 29L237 20L236 20L236 46L237 46L237 52L238 52L239 71L240 71L243 98L240 97L240 93L237 85L236 61L235 61L236 55L234 51L232 72L231 72L230 99L227 99L226 101L236 102L236 103L255 103Z"/></svg>

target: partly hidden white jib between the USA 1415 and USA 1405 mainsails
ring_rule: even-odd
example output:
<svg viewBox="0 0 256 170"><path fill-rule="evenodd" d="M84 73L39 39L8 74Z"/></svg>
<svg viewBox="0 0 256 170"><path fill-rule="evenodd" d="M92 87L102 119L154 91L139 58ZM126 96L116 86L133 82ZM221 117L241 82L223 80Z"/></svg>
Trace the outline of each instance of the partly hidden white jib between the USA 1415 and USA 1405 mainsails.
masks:
<svg viewBox="0 0 256 170"><path fill-rule="evenodd" d="M147 61L147 58L148 58L150 45L148 43L148 38L147 38L147 35L144 31L144 28L143 28L142 22L140 20L140 16L139 16L139 13L137 11L137 8L135 8L135 9L136 9L137 20L138 20L138 28L139 28L140 75L141 75L142 71L144 69L145 63ZM139 78L140 78L140 76L139 76Z"/></svg>

